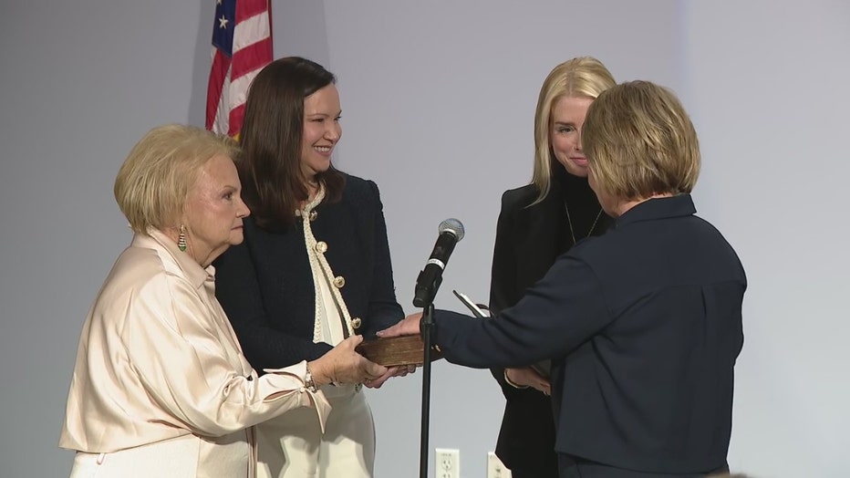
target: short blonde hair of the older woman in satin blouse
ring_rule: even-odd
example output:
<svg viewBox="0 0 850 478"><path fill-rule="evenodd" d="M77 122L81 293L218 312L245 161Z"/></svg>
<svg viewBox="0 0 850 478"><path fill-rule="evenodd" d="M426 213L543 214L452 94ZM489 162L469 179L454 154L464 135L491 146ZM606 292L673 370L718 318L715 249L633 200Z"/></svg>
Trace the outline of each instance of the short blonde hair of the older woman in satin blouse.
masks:
<svg viewBox="0 0 850 478"><path fill-rule="evenodd" d="M136 233L179 225L192 185L215 156L237 159L236 142L193 126L148 131L115 178L115 201Z"/></svg>

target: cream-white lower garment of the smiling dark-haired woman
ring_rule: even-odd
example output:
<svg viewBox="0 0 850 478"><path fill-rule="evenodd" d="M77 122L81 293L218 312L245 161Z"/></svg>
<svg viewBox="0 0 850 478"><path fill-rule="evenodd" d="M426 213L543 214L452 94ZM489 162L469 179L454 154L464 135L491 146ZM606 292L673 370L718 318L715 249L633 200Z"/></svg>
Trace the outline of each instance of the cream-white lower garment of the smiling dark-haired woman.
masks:
<svg viewBox="0 0 850 478"><path fill-rule="evenodd" d="M257 478L371 478L375 422L364 393L348 385L322 391L332 407L324 434L309 408L257 426Z"/></svg>

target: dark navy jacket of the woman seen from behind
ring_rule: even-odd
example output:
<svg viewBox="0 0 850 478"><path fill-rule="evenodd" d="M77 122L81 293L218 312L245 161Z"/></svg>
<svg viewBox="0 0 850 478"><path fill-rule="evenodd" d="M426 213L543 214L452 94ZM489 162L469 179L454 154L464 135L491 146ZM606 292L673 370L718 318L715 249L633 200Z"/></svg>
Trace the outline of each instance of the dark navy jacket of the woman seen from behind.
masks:
<svg viewBox="0 0 850 478"><path fill-rule="evenodd" d="M637 204L490 320L440 310L468 367L553 358L556 452L673 476L725 466L743 267L689 194Z"/></svg>

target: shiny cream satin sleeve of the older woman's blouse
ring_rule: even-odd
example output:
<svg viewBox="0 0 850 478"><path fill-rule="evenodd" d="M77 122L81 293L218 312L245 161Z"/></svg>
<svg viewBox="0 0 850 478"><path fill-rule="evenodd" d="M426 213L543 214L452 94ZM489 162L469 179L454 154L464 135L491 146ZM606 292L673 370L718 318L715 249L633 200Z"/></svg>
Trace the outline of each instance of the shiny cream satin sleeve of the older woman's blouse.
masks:
<svg viewBox="0 0 850 478"><path fill-rule="evenodd" d="M241 354L212 286L180 276L150 277L126 304L119 331L130 367L163 420L202 435L223 435L315 406L324 429L330 406L304 386L306 362L257 377Z"/></svg>

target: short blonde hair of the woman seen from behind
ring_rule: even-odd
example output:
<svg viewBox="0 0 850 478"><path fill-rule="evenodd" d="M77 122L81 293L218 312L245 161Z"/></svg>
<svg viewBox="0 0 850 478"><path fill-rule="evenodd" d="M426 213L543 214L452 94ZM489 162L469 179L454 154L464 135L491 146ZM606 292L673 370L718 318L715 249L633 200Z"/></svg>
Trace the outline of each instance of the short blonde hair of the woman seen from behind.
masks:
<svg viewBox="0 0 850 478"><path fill-rule="evenodd" d="M630 81L587 110L582 145L596 184L618 200L691 192L700 176L700 141L667 88Z"/></svg>

